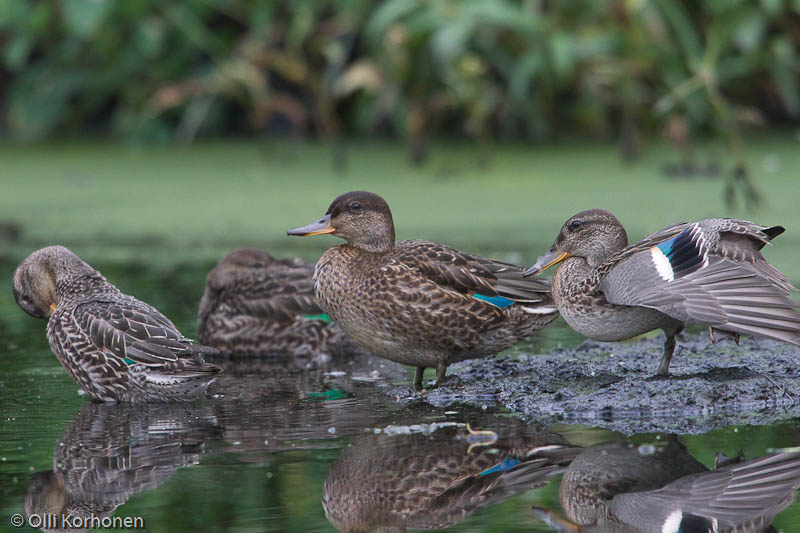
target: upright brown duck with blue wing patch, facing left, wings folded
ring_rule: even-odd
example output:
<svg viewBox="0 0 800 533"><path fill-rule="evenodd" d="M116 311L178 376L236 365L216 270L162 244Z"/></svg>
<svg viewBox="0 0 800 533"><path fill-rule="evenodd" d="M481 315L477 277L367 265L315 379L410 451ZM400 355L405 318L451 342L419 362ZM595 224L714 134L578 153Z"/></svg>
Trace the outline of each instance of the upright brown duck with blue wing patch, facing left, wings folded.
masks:
<svg viewBox="0 0 800 533"><path fill-rule="evenodd" d="M436 385L448 365L494 355L557 316L550 285L523 268L425 240L395 241L392 213L377 194L338 196L318 221L289 235L330 234L314 269L320 308L367 351L425 368Z"/></svg>

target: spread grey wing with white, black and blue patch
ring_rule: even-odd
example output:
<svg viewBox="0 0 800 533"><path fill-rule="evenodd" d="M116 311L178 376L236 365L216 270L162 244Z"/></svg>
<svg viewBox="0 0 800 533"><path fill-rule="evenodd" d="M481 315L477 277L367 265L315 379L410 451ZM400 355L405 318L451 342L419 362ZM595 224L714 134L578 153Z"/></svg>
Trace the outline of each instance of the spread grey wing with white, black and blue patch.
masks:
<svg viewBox="0 0 800 533"><path fill-rule="evenodd" d="M759 252L780 231L730 219L676 225L595 269L599 290L612 304L800 344L794 288Z"/></svg>

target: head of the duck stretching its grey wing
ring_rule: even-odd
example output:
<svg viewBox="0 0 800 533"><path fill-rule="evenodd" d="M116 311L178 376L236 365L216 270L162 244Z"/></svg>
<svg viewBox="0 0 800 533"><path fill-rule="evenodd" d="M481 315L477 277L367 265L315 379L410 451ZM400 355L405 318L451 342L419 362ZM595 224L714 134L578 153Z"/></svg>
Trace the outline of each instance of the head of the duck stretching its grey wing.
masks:
<svg viewBox="0 0 800 533"><path fill-rule="evenodd" d="M603 209L589 209L570 217L553 247L525 271L539 274L569 257L581 258L594 268L628 245L628 235L617 217Z"/></svg>

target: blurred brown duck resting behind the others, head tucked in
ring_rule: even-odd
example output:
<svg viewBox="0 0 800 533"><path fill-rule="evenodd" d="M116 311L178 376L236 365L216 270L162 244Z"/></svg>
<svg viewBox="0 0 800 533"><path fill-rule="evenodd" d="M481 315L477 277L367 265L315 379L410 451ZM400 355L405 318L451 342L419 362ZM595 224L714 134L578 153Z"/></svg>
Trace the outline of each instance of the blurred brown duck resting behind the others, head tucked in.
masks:
<svg viewBox="0 0 800 533"><path fill-rule="evenodd" d="M360 347L314 300L314 265L238 248L206 276L197 338L242 356L346 355Z"/></svg>

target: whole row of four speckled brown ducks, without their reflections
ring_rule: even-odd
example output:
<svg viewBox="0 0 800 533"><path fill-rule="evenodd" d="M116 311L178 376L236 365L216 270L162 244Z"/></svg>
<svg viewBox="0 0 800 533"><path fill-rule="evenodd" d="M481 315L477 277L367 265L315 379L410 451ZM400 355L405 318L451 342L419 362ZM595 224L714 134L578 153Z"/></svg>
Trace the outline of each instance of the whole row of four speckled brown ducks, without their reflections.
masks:
<svg viewBox="0 0 800 533"><path fill-rule="evenodd" d="M95 401L188 401L221 371L218 353L258 357L368 352L436 371L494 355L559 315L581 335L620 341L661 329L657 374L667 375L675 336L707 326L711 341L740 334L800 345L797 289L762 248L783 233L736 219L669 226L628 243L608 211L582 211L530 268L424 240L396 241L389 206L353 191L288 235L345 241L316 266L242 248L208 274L197 343L157 309L122 293L63 246L33 252L13 292L47 320L53 353ZM556 266L552 281L539 277Z"/></svg>

